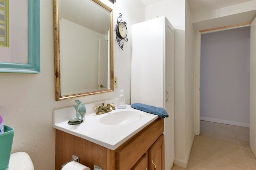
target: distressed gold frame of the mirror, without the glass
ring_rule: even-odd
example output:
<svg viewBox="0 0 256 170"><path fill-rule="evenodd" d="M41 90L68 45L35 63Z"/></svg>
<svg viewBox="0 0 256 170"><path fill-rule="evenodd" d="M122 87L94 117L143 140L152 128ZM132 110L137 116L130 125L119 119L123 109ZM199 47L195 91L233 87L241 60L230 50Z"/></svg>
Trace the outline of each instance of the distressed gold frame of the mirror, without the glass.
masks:
<svg viewBox="0 0 256 170"><path fill-rule="evenodd" d="M99 0L92 0L98 5L102 6L110 12L110 89L98 90L92 92L84 92L78 94L69 94L61 96L60 86L60 24L59 24L59 0L53 0L54 7L54 63L55 63L55 100L65 100L70 98L78 98L83 96L89 96L94 94L101 94L105 92L114 91L114 46L113 46L113 10L103 4Z"/></svg>

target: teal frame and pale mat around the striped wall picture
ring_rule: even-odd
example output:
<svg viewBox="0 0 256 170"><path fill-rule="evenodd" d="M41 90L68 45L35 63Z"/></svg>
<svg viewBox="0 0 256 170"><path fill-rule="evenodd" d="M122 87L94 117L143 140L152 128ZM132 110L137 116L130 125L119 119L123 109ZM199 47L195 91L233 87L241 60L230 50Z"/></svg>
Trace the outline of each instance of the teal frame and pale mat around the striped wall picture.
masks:
<svg viewBox="0 0 256 170"><path fill-rule="evenodd" d="M0 2L2 1L7 2L8 0L0 0ZM9 22L9 29L11 30L12 27L12 31L8 34L9 47L0 46L0 72L40 73L40 0L19 0L12 2L13 6L11 2L9 1L9 13L16 12L18 22L12 24ZM28 11L24 10L27 12L24 16L17 12L23 9L22 5L28 9ZM22 17L25 17L27 22L27 28L24 30L23 27L21 27L22 30L17 27L18 24L24 23L19 22ZM19 32L22 35L18 35ZM20 58L25 58L25 62L16 62Z"/></svg>

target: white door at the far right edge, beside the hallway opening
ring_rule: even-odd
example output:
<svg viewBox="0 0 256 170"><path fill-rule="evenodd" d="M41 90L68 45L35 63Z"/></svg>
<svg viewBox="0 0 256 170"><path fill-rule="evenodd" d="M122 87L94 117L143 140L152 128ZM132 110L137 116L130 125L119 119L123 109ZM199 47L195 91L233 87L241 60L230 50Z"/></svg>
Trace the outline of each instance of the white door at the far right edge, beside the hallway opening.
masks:
<svg viewBox="0 0 256 170"><path fill-rule="evenodd" d="M250 148L256 156L256 18L251 23L250 38Z"/></svg>

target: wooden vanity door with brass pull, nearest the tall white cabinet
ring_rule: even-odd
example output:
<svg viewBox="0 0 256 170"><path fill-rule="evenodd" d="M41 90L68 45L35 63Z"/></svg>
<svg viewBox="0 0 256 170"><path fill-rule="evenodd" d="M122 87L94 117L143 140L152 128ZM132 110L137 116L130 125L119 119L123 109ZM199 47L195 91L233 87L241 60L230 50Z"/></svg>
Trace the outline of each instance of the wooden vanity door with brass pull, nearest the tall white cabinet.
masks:
<svg viewBox="0 0 256 170"><path fill-rule="evenodd" d="M164 135L148 150L148 170L164 170Z"/></svg>

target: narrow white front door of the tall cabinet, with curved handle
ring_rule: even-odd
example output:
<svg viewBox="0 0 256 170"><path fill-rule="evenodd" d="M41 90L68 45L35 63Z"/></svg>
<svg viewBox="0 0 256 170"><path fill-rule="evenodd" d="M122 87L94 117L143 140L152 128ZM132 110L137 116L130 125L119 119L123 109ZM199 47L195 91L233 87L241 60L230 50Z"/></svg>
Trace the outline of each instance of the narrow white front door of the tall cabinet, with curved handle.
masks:
<svg viewBox="0 0 256 170"><path fill-rule="evenodd" d="M169 117L164 119L165 167L170 170L174 161L174 27L165 20L165 100Z"/></svg>

